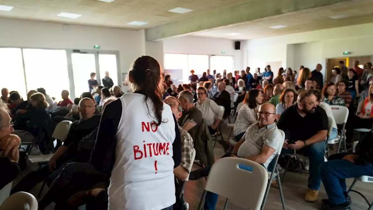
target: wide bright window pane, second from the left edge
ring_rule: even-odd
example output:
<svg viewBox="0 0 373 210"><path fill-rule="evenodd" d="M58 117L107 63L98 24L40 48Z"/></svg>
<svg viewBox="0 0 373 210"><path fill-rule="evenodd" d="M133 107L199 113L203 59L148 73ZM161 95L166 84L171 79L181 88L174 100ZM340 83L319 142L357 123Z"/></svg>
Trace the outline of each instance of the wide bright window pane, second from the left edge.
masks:
<svg viewBox="0 0 373 210"><path fill-rule="evenodd" d="M23 49L27 90L44 88L46 93L62 100L61 91L70 90L65 50Z"/></svg>

